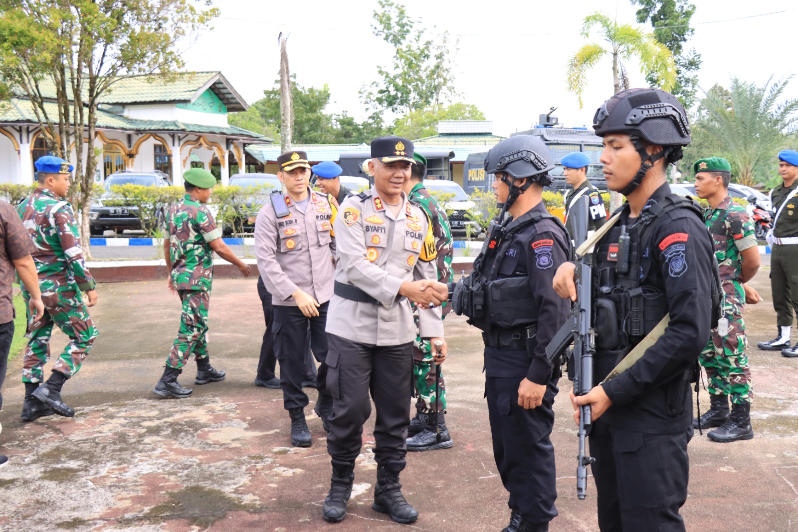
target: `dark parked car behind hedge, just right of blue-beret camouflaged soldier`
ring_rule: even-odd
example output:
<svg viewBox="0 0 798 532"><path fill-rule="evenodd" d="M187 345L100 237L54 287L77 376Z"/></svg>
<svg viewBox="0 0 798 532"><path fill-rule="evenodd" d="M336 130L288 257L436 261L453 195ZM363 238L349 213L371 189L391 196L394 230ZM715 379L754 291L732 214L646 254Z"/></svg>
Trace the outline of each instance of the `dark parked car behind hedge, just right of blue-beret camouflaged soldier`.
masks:
<svg viewBox="0 0 798 532"><path fill-rule="evenodd" d="M103 188L105 193L92 200L89 210L89 233L91 236L102 236L106 229L123 231L124 229L140 229L138 207L133 206L108 206L105 202L113 199L111 187L113 185L144 185L148 187L172 186L167 174L162 172L119 172L105 178ZM164 211L159 215L164 218Z"/></svg>

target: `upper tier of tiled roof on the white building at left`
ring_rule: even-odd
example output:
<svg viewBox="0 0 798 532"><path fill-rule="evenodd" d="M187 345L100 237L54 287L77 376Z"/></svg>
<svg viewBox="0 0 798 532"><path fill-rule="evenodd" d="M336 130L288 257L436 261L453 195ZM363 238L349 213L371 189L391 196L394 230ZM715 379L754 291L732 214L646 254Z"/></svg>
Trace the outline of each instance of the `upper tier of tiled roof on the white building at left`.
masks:
<svg viewBox="0 0 798 532"><path fill-rule="evenodd" d="M45 98L56 99L52 79L45 78L40 82L40 87ZM230 112L249 109L243 97L218 71L120 77L102 95L100 103L135 104L164 101L190 103L200 97L206 89L211 89L224 105L227 105L227 110ZM22 96L21 93L18 94Z"/></svg>

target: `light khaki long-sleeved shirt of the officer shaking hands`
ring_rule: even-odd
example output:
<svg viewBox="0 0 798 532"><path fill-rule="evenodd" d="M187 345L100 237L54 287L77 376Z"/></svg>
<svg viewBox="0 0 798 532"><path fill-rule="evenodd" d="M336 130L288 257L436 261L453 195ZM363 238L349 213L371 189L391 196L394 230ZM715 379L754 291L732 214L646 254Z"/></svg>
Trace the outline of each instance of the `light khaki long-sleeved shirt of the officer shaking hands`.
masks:
<svg viewBox="0 0 798 532"><path fill-rule="evenodd" d="M425 212L401 194L394 216L376 189L347 197L333 224L338 248L335 280L377 300L361 303L334 295L327 332L369 345L399 345L416 339L410 302L399 296L405 281L437 280L435 239ZM444 335L440 307L419 312L422 338Z"/></svg>

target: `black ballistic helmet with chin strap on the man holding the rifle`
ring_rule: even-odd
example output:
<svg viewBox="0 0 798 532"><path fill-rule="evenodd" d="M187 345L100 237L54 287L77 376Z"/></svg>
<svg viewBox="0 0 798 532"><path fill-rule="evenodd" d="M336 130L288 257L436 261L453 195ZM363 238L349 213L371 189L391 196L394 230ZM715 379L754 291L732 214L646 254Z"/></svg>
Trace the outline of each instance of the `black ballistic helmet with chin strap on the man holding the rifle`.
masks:
<svg viewBox="0 0 798 532"><path fill-rule="evenodd" d="M593 117L596 135L625 133L638 150L642 165L621 193L626 196L640 185L646 172L662 157L666 163L681 159L681 148L690 143L687 113L673 94L662 89L626 89L605 101ZM642 141L663 147L654 155L646 153Z"/></svg>

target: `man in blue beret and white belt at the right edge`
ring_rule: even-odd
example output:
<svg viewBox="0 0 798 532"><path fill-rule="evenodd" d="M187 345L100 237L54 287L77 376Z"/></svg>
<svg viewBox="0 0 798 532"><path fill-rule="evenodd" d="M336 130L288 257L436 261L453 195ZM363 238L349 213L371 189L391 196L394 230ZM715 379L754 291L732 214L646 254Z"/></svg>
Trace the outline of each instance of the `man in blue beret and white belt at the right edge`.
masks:
<svg viewBox="0 0 798 532"><path fill-rule="evenodd" d="M770 191L775 217L772 235L768 235L770 288L779 334L758 347L793 358L798 356L798 342L790 347L793 309L798 314L798 152L794 149L779 152L779 175L784 182Z"/></svg>

